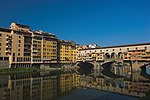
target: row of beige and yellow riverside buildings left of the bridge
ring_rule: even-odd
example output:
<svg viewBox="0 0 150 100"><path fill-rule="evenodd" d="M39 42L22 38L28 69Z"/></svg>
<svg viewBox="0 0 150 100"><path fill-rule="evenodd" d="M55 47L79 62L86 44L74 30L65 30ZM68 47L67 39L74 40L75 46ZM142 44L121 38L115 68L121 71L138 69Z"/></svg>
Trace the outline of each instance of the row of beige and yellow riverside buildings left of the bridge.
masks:
<svg viewBox="0 0 150 100"><path fill-rule="evenodd" d="M60 53L61 52L61 53ZM74 57L75 56L75 57ZM30 26L11 23L0 27L0 68L31 68L75 62L75 48L54 34L32 31Z"/></svg>

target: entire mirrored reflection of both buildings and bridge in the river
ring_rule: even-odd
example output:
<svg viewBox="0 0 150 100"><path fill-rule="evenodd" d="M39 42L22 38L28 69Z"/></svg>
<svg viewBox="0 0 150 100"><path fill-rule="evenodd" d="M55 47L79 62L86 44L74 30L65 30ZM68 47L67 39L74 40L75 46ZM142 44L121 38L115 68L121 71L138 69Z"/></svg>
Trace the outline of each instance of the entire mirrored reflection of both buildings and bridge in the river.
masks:
<svg viewBox="0 0 150 100"><path fill-rule="evenodd" d="M63 70L38 74L1 75L0 100L56 100L79 87L142 97L150 89L150 80L141 76L140 72L134 72L130 80L107 77L100 70L93 70L93 73L88 75L78 75L74 71Z"/></svg>

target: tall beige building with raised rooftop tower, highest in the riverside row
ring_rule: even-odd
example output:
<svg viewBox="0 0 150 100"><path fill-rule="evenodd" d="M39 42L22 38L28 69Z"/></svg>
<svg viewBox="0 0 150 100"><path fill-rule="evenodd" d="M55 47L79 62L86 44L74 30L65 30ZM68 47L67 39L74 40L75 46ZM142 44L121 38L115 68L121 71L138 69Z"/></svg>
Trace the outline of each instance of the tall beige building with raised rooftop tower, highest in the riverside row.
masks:
<svg viewBox="0 0 150 100"><path fill-rule="evenodd" d="M30 67L32 59L32 32L27 25L11 23L11 67Z"/></svg>

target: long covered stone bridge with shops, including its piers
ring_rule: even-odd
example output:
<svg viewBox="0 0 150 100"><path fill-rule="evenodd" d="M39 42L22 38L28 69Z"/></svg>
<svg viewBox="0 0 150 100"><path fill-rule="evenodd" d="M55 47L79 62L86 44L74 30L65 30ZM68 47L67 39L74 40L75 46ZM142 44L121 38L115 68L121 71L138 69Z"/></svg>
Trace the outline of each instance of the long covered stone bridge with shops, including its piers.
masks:
<svg viewBox="0 0 150 100"><path fill-rule="evenodd" d="M94 69L115 62L112 66L125 65L126 68L119 67L124 72L141 70L141 66L150 63L150 43L80 49L77 64L81 62L93 64ZM117 73L117 69L114 67L113 71Z"/></svg>

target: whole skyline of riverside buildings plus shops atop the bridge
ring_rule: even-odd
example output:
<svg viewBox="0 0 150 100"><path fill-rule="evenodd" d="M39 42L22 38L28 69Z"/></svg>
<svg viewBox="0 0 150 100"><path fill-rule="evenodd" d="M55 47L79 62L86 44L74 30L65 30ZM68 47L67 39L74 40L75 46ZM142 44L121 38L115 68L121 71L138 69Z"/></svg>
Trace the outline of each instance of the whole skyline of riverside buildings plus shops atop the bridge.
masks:
<svg viewBox="0 0 150 100"><path fill-rule="evenodd" d="M3 67L52 67L53 64L104 62L107 59L149 62L150 43L80 46L74 41L58 39L52 33L33 31L28 25L13 22L9 28L0 27L0 63Z"/></svg>

